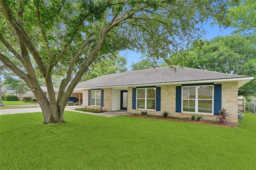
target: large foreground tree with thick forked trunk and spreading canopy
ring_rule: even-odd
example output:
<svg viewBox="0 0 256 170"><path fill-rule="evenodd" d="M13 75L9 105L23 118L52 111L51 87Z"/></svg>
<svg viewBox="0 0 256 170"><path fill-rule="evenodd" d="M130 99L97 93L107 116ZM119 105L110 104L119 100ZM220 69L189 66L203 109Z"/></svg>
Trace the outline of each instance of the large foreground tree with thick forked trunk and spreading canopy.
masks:
<svg viewBox="0 0 256 170"><path fill-rule="evenodd" d="M234 2L234 1L231 1ZM203 22L222 20L228 0L0 0L0 59L38 99L44 123L65 123L66 101L91 63L124 49L185 49L204 33ZM17 48L18 46L18 48ZM8 57L21 61L21 71ZM35 63L32 63L32 58ZM49 101L34 68L44 77ZM52 76L65 70L57 99ZM73 75L73 77L72 77Z"/></svg>

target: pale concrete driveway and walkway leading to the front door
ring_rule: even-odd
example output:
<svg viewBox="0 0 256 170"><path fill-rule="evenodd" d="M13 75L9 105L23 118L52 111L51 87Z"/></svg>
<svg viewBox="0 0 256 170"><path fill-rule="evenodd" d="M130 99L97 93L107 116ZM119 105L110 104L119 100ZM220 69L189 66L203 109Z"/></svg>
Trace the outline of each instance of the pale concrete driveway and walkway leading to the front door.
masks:
<svg viewBox="0 0 256 170"><path fill-rule="evenodd" d="M21 105L17 105L17 106L21 106ZM28 105L24 105L24 106L28 106ZM65 111L74 111L74 112L78 112L78 113L97 115L97 116L105 116L105 117L116 117L116 116L120 116L120 115L130 115L124 111L91 113L91 112L84 112L84 111L76 111L76 110L74 110L76 108L82 108L82 106L66 106ZM8 114L16 114L16 113L34 113L34 112L42 112L42 110L40 107L20 108L20 109L1 109L0 115L8 115Z"/></svg>

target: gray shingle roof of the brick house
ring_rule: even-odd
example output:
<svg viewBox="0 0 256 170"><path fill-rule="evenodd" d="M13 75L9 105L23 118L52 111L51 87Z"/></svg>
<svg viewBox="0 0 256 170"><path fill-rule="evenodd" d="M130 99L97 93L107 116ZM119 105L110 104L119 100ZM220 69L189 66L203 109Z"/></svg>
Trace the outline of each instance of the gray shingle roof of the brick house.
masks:
<svg viewBox="0 0 256 170"><path fill-rule="evenodd" d="M123 73L114 73L103 75L88 81L78 83L75 88L88 87L108 87L122 85L143 85L154 83L171 83L182 81L203 81L213 79L232 79L250 77L244 75L230 75L214 71L192 69L188 67L180 68L177 66L177 72L174 69L166 67L157 67L156 71L152 69L143 69L128 71Z"/></svg>

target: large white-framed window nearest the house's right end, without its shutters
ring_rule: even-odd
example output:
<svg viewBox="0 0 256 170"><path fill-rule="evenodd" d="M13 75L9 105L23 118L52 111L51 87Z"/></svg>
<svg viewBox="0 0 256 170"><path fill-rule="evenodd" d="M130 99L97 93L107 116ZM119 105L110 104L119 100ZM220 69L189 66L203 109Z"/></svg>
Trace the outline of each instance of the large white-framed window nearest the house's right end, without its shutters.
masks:
<svg viewBox="0 0 256 170"><path fill-rule="evenodd" d="M182 87L182 112L214 112L214 85Z"/></svg>

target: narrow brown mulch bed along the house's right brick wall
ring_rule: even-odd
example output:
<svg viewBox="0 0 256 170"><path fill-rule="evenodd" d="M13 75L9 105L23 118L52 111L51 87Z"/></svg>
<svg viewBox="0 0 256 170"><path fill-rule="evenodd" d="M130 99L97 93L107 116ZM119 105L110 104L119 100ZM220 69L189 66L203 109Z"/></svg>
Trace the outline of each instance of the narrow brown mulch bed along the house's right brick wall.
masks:
<svg viewBox="0 0 256 170"><path fill-rule="evenodd" d="M179 121L179 122L188 122L188 123L196 123L196 124L203 124L203 125L213 125L218 127L230 127L230 128L237 128L237 125L230 125L230 124L219 124L219 123L210 123L210 122L204 122L204 121L192 121L187 119L177 119L172 117L159 117L159 116L144 116L144 115L130 115L131 117L140 117L140 118L146 118L146 119L161 119L161 120L167 120L167 121Z"/></svg>

